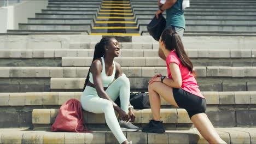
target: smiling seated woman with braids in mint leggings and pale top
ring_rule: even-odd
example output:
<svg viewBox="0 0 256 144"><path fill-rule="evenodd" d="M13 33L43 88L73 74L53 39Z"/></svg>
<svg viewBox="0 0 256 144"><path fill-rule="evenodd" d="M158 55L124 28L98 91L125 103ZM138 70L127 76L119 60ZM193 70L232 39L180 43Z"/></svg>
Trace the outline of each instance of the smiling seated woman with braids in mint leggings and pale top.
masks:
<svg viewBox="0 0 256 144"><path fill-rule="evenodd" d="M119 143L131 143L122 131L137 131L139 128L130 122L135 120L130 105L130 81L122 73L120 64L114 61L119 51L119 43L115 38L104 37L96 44L81 104L85 111L104 113L106 123ZM120 107L114 103L118 96ZM119 121L114 110L120 116Z"/></svg>

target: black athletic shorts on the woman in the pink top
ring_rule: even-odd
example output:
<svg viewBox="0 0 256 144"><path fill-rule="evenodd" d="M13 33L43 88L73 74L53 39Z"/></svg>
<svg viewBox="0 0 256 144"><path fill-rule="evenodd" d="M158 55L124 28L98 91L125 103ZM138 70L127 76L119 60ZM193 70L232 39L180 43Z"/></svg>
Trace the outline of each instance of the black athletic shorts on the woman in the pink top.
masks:
<svg viewBox="0 0 256 144"><path fill-rule="evenodd" d="M206 100L204 98L184 91L182 88L173 88L172 93L178 106L187 110L190 119L197 113L205 113Z"/></svg>

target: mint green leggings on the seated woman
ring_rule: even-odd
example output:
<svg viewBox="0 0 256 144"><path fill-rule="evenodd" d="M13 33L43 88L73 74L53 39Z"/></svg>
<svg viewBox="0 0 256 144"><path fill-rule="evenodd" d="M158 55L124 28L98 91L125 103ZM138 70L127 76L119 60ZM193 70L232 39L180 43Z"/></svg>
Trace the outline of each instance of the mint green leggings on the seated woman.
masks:
<svg viewBox="0 0 256 144"><path fill-rule="evenodd" d="M108 96L115 101L120 95L121 109L128 113L130 102L130 81L123 74L118 77L106 90ZM98 97L95 88L86 86L83 94L81 95L81 105L85 111L93 113L104 113L106 123L119 143L124 142L126 139L123 134L118 119L115 116L113 104L107 100Z"/></svg>

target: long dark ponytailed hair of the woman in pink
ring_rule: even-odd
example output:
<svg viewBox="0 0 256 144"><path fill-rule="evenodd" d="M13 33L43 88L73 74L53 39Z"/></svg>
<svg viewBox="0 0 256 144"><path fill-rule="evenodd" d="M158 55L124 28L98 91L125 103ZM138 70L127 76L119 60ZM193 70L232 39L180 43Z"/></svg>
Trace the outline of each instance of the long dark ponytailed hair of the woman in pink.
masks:
<svg viewBox="0 0 256 144"><path fill-rule="evenodd" d="M162 41L164 41L167 50L176 51L182 65L188 68L191 74L196 77L195 70L193 69L193 63L190 61L187 53L184 50L181 37L179 37L176 32L170 29L165 29L165 31L162 33Z"/></svg>

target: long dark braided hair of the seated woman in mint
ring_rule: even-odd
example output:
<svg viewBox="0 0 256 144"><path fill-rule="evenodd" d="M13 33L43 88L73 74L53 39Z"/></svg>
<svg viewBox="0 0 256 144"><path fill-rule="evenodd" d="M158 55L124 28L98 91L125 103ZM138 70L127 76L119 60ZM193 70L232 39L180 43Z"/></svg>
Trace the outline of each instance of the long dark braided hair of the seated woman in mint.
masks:
<svg viewBox="0 0 256 144"><path fill-rule="evenodd" d="M94 49L94 58L92 59L92 62L91 62L91 63L93 63L93 62L95 61L95 59L97 59L97 58L104 57L104 55L105 55L105 49L104 49L104 47L110 43L110 40L111 40L111 39L115 39L115 38L113 38L113 37L103 37L103 38L101 39L100 43L97 43L97 44L95 45L95 49ZM87 76L86 76L86 80L85 80L85 83L84 83L83 91L84 91L84 89L85 89L87 83L89 82L90 70L91 70L91 67L90 67L90 69L89 69L89 71L88 71L88 74L87 74Z"/></svg>

